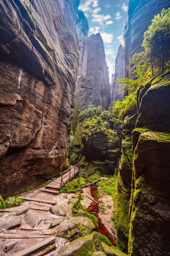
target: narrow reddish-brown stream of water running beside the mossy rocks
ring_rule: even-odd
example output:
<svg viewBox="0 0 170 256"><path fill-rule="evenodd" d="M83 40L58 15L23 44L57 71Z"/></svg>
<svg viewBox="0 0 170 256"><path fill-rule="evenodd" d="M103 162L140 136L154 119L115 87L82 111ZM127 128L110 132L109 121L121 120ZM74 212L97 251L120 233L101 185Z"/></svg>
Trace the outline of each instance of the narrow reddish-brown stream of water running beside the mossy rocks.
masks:
<svg viewBox="0 0 170 256"><path fill-rule="evenodd" d="M97 186L94 185L94 186L91 186L90 187L90 192L91 192L91 195L92 195L92 198L95 200L95 201L98 201L98 197L97 197ZM110 233L110 231L107 229L107 227L105 227L102 219L98 216L98 212L99 212L99 209L98 209L98 204L92 202L90 204L90 206L88 207L88 212L91 213L91 214L94 214L94 216L96 216L96 218L98 219L98 229L96 230L97 232L100 232L101 234L105 235L109 240L110 242L112 243L112 245L114 247L116 247L116 239L113 237L113 235Z"/></svg>

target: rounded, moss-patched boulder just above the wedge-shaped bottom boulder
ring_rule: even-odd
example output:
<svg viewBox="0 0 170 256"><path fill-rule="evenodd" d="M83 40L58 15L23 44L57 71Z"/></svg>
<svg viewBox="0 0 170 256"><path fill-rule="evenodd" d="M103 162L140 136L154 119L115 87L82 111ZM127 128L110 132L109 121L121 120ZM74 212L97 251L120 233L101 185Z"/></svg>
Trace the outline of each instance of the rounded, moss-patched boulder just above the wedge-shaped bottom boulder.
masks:
<svg viewBox="0 0 170 256"><path fill-rule="evenodd" d="M80 236L89 235L92 230L95 229L95 225L87 217L72 217L69 220L63 222L58 226L58 236L74 240Z"/></svg>

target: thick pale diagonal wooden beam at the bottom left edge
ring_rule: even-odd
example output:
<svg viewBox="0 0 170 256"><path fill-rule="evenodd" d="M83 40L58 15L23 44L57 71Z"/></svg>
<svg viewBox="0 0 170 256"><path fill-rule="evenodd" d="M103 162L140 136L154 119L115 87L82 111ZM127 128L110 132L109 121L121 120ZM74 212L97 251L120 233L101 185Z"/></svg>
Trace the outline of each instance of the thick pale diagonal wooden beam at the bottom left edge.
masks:
<svg viewBox="0 0 170 256"><path fill-rule="evenodd" d="M32 254L38 252L40 249L45 248L54 243L55 243L55 237L50 236L49 238L44 239L43 241L36 243L35 245L32 245L29 248L22 250L21 252L12 254L11 256L31 256Z"/></svg>

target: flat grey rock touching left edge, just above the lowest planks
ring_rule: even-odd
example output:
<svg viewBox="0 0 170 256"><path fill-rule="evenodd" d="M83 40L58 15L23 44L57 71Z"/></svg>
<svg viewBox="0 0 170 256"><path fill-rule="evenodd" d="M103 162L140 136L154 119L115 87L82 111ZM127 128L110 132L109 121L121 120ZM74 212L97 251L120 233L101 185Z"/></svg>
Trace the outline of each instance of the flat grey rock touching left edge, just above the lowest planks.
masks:
<svg viewBox="0 0 170 256"><path fill-rule="evenodd" d="M11 229L12 227L20 226L22 221L21 216L2 216L0 217L0 232Z"/></svg>

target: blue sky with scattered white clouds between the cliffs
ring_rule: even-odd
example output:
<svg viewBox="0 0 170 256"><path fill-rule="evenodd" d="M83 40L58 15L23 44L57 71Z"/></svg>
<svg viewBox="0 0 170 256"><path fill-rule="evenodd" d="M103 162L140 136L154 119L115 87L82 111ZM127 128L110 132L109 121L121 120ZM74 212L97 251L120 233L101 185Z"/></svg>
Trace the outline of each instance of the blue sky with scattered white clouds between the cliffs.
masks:
<svg viewBox="0 0 170 256"><path fill-rule="evenodd" d="M129 0L81 0L79 9L89 22L89 35L100 32L105 45L110 81L114 73L115 59L123 42L123 30L128 16Z"/></svg>

